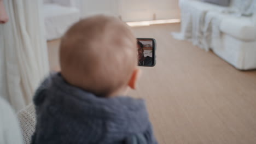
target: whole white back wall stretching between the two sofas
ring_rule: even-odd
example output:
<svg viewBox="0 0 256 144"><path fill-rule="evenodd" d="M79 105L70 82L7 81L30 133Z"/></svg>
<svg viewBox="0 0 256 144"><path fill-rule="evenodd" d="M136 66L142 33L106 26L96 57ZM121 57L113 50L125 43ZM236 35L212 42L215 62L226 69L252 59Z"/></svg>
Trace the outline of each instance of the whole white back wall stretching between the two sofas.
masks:
<svg viewBox="0 0 256 144"><path fill-rule="evenodd" d="M80 0L82 17L106 14L124 21L179 19L178 0Z"/></svg>

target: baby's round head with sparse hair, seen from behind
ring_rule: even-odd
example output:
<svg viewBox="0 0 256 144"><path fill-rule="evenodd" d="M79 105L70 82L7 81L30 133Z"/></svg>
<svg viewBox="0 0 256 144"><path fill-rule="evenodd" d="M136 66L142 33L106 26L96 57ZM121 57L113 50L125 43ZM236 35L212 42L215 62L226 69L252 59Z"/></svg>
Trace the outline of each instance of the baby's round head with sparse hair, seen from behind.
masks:
<svg viewBox="0 0 256 144"><path fill-rule="evenodd" d="M64 79L76 87L110 97L135 88L137 43L129 26L115 17L94 16L75 23L61 40Z"/></svg>

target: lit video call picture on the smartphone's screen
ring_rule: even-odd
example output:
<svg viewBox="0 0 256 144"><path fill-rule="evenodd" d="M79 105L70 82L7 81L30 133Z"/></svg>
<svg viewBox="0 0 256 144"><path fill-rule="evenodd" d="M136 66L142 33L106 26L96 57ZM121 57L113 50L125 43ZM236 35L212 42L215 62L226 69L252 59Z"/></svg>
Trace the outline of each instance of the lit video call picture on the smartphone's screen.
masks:
<svg viewBox="0 0 256 144"><path fill-rule="evenodd" d="M153 41L137 40L138 65L153 65Z"/></svg>

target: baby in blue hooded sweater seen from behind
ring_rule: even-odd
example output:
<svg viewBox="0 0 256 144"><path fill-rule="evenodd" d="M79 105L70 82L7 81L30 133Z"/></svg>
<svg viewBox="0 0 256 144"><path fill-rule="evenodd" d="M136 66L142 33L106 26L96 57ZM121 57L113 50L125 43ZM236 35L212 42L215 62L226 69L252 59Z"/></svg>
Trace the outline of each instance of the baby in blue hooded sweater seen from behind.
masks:
<svg viewBox="0 0 256 144"><path fill-rule="evenodd" d="M137 43L114 17L75 23L60 45L61 72L34 96L37 124L32 143L157 143L143 100L135 89Z"/></svg>

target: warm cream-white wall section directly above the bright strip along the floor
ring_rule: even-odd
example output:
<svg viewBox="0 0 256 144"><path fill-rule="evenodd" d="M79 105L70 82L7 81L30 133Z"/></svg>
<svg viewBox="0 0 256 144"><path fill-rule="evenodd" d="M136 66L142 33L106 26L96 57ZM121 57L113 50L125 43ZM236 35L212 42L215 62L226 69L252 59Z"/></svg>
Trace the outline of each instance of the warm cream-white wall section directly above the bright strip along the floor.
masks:
<svg viewBox="0 0 256 144"><path fill-rule="evenodd" d="M120 0L124 21L179 19L178 0Z"/></svg>

